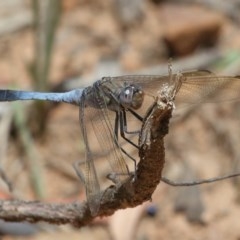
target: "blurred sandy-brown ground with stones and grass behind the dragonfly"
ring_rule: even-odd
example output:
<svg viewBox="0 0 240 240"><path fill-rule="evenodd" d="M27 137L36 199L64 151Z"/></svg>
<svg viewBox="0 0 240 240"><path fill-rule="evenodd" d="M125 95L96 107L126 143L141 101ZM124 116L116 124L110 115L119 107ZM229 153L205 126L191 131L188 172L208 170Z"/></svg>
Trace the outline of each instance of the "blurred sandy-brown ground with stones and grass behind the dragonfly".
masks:
<svg viewBox="0 0 240 240"><path fill-rule="evenodd" d="M0 0L0 88L67 91L103 76L167 74L170 58L174 71L239 75L239 16L238 0ZM164 176L183 182L240 171L238 103L189 106L176 114L166 139ZM1 103L0 143L2 199L85 198L72 169L84 159L77 107ZM152 202L82 229L0 222L0 234L4 239L239 239L239 187L237 178L201 187L160 183Z"/></svg>

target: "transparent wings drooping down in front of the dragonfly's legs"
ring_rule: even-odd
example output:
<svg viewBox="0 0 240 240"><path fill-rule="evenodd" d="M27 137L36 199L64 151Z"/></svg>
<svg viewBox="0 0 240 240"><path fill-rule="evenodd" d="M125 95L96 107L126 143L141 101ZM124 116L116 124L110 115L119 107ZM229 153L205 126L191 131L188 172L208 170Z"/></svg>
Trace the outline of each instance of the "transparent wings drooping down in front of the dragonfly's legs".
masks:
<svg viewBox="0 0 240 240"><path fill-rule="evenodd" d="M94 95L98 107L85 107L84 99L80 107L80 126L86 151L83 175L92 215L96 215L99 210L101 189L104 189L102 183L106 180L106 175L114 177L114 183L121 183L129 176L125 158L114 133L114 118L109 116L114 113L101 102L99 92L95 91ZM105 159L108 160L108 166L110 165L108 168ZM104 180L102 172L106 173Z"/></svg>

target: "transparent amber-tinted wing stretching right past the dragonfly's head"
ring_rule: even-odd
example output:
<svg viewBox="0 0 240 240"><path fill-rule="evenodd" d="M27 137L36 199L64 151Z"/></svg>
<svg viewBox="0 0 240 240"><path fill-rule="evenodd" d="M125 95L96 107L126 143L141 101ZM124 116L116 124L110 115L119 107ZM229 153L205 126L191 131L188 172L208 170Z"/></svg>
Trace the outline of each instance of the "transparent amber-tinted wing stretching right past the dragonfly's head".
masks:
<svg viewBox="0 0 240 240"><path fill-rule="evenodd" d="M219 77L209 71L189 71L181 73L181 87L176 102L203 103L236 100L239 98L240 77ZM174 81L179 75L173 74ZM127 83L139 84L145 94L156 96L158 91L170 83L170 76L130 75L111 78L124 86Z"/></svg>

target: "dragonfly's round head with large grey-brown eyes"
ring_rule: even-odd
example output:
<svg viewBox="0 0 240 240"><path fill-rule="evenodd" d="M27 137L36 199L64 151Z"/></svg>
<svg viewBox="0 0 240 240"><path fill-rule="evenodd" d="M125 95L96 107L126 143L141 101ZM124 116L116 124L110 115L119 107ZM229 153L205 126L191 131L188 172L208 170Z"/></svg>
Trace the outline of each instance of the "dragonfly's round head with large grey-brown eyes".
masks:
<svg viewBox="0 0 240 240"><path fill-rule="evenodd" d="M139 109L144 100L144 92L137 84L125 86L119 94L119 102L123 107Z"/></svg>

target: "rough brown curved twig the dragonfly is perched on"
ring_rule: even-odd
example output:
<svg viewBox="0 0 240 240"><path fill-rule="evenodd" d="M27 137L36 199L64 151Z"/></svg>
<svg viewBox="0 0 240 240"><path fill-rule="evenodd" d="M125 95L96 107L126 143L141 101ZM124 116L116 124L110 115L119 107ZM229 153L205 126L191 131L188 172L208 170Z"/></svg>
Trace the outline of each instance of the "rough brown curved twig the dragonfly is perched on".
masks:
<svg viewBox="0 0 240 240"><path fill-rule="evenodd" d="M121 186L106 189L97 216L109 216L118 209L135 207L151 199L161 179L165 155L163 138L168 133L171 114L172 104L160 106L155 102L148 110L139 138L137 177L135 181L129 178ZM20 200L1 201L0 218L7 221L70 223L76 227L87 225L94 219L86 202L48 204Z"/></svg>

